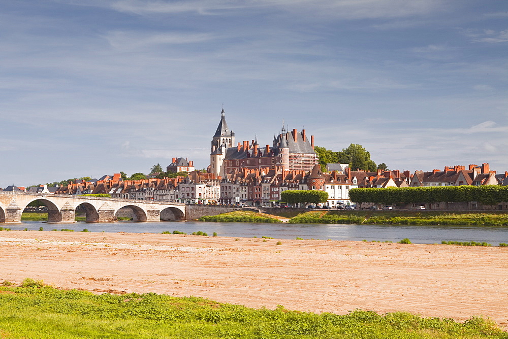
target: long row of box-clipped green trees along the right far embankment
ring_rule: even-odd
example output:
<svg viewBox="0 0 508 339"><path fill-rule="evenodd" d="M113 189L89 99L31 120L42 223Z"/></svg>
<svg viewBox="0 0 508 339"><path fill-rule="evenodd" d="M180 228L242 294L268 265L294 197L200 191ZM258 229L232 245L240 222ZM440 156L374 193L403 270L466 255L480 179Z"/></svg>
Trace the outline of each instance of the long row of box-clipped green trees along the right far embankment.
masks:
<svg viewBox="0 0 508 339"><path fill-rule="evenodd" d="M495 205L508 201L508 186L433 186L352 188L351 201L374 204L432 204L436 202L477 201L483 205Z"/></svg>

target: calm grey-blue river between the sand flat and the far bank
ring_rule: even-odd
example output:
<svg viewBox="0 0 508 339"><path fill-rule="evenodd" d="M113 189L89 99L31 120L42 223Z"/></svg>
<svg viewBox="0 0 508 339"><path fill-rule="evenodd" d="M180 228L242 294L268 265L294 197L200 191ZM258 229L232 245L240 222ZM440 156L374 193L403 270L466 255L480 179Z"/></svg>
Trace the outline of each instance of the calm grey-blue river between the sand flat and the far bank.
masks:
<svg viewBox="0 0 508 339"><path fill-rule="evenodd" d="M179 230L188 234L203 231L218 236L237 236L252 238L270 236L276 239L321 239L321 240L367 240L398 242L408 238L416 244L440 244L441 241L486 242L492 246L508 243L508 227L472 227L472 226L409 226L409 225L342 225L342 224L286 224L286 223L235 223L200 221L160 221L160 222L115 222L48 224L42 221L24 221L23 224L0 225L12 230L60 230L62 228L90 232L135 232L161 233Z"/></svg>

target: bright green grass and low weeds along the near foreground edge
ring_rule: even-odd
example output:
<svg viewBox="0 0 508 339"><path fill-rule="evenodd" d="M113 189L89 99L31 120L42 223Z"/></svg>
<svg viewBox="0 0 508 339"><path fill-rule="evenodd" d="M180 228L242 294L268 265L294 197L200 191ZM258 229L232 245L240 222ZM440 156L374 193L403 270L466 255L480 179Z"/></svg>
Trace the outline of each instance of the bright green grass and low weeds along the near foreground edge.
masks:
<svg viewBox="0 0 508 339"><path fill-rule="evenodd" d="M0 287L2 337L508 338L494 322L481 317L459 323L402 312L314 314L282 306L256 310L194 296L96 295L26 279L23 285Z"/></svg>

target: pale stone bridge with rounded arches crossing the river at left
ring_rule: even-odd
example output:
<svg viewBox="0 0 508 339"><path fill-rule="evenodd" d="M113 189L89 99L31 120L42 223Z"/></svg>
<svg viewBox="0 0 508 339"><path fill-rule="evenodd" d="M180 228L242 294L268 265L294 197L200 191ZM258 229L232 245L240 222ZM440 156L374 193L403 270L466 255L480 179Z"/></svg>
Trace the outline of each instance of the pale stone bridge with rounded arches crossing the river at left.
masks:
<svg viewBox="0 0 508 339"><path fill-rule="evenodd" d="M178 202L116 199L81 195L56 195L25 192L0 192L0 223L20 223L25 207L34 200L42 200L48 209L48 222L74 222L76 208L86 211L87 222L116 221L115 214L121 208L133 210L136 221L182 220L227 211L212 211L185 206ZM209 214L207 214L207 212Z"/></svg>

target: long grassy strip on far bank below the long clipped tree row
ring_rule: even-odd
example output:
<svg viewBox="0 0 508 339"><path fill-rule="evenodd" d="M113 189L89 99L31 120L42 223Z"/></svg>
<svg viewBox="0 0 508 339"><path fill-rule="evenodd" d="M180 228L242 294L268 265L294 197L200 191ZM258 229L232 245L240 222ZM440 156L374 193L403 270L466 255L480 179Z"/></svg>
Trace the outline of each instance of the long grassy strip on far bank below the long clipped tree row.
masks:
<svg viewBox="0 0 508 339"><path fill-rule="evenodd" d="M311 211L300 214L289 222L295 224L507 226L508 214L501 212Z"/></svg>

